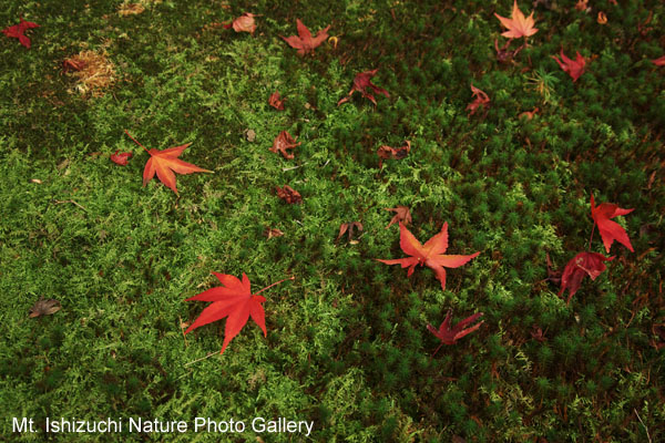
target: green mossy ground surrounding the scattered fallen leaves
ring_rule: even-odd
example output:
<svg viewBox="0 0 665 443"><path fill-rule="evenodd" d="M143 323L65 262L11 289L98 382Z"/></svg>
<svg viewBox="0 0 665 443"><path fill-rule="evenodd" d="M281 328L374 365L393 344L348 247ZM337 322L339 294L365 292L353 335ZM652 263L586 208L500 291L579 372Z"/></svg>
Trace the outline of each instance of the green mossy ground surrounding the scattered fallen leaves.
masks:
<svg viewBox="0 0 665 443"><path fill-rule="evenodd" d="M665 53L662 2L598 0L589 13L542 2L540 31L504 65L493 12L509 16L508 0L143 3L136 16L109 0L0 11L0 27L21 16L41 25L30 50L0 35L8 441L45 439L11 434L13 416L315 422L309 437L266 442L665 439L655 347L665 322L665 68L649 61ZM260 14L254 35L213 24L243 12ZM279 38L296 18L313 32L331 24L337 48L298 56ZM592 59L575 83L550 58L561 48ZM115 65L101 96L61 74L82 50ZM390 99L375 107L356 94L337 107L355 74L375 68ZM487 115L467 115L471 83L491 97ZM285 112L267 105L275 90ZM178 176L180 197L156 179L142 187L147 154L125 128L149 147L192 142L181 158L214 174ZM268 151L283 130L303 142L294 161ZM405 140L410 154L379 169L378 147ZM127 166L109 161L116 150L134 153ZM301 205L275 196L284 184ZM592 193L635 208L621 218L635 253L615 244L608 270L566 306L545 280L545 257L562 268L587 248ZM427 268L408 279L375 260L403 257L382 209L398 205L411 208L421 240L448 222L450 254L481 251L448 272L446 291ZM359 243L335 243L355 220ZM285 235L266 239L268 226ZM603 251L597 233L592 248ZM222 344L223 322L186 340L181 329L205 306L184 299L216 285L212 270L246 272L256 289L296 280L264 293L267 338L249 322L222 357L187 365ZM62 310L28 318L40 296ZM439 343L426 324L449 308L456 320L483 311L485 322L431 358Z"/></svg>

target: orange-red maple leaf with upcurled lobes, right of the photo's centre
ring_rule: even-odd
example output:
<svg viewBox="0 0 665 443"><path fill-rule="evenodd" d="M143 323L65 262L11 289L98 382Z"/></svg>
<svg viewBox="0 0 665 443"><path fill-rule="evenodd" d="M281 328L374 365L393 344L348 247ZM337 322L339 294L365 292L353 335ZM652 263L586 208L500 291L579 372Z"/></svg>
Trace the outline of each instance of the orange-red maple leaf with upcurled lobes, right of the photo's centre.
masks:
<svg viewBox="0 0 665 443"><path fill-rule="evenodd" d="M407 229L402 223L399 223L399 246L405 254L411 257L398 258L395 260L381 260L380 262L386 265L401 265L402 268L409 268L407 277L411 277L416 265L427 265L436 274L439 281L441 281L441 289L446 289L446 268L458 268L466 265L472 258L477 257L480 253L471 254L470 256L449 256L444 255L448 249L448 222L443 224L441 231L427 240L424 245Z"/></svg>

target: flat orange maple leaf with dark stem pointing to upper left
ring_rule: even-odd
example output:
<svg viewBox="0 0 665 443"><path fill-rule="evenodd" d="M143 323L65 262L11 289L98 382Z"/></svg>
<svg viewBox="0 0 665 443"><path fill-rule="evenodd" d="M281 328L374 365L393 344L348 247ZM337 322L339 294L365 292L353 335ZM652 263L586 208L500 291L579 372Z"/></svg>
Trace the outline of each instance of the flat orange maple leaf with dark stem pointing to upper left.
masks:
<svg viewBox="0 0 665 443"><path fill-rule="evenodd" d="M150 154L150 159L145 164L145 168L143 169L143 186L147 185L147 182L153 179L155 173L157 174L157 178L170 187L175 195L177 195L177 189L175 187L175 174L192 174L192 173L212 173L212 171L203 169L198 166L195 166L191 163L183 162L177 158L183 151L192 143L187 143L181 146L170 147L167 150L147 150L141 143L136 141L136 138L132 137L132 135L125 130L125 134L130 136L139 146L143 147L146 153Z"/></svg>

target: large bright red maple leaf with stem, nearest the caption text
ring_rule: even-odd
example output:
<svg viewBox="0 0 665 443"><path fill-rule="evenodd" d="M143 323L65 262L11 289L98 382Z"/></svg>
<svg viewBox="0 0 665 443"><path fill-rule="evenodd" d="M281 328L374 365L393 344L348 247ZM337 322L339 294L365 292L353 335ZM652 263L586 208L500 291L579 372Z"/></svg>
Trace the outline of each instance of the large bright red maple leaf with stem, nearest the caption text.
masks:
<svg viewBox="0 0 665 443"><path fill-rule="evenodd" d="M254 322L256 322L264 331L264 337L266 337L266 318L262 306L266 299L265 297L259 296L259 293L283 281L293 280L295 277L277 281L276 284L263 288L256 293L252 293L249 279L244 272L243 281L237 277L227 274L213 274L222 282L222 286L211 288L185 300L213 302L201 312L201 316L198 316L198 318L187 328L185 333L213 321L222 320L224 317L228 317L226 319L224 343L219 351L219 353L224 353L226 346L238 334L238 332L241 332L243 327L247 323L247 320L249 320L249 317L252 317Z"/></svg>

